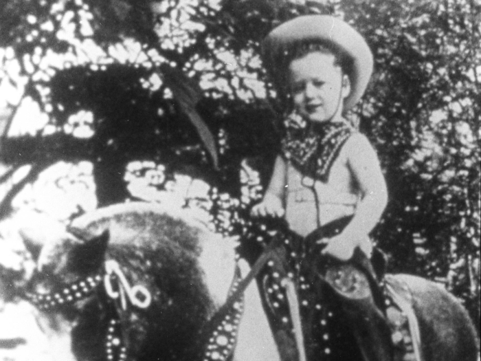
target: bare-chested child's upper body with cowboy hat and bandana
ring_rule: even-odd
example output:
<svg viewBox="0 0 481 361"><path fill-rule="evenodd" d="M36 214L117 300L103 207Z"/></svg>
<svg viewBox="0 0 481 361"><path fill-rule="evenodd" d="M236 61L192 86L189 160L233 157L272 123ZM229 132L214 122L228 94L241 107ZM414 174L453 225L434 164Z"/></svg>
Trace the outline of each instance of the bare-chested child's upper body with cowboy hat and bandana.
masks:
<svg viewBox="0 0 481 361"><path fill-rule="evenodd" d="M323 254L337 261L352 259L357 248L369 259L368 234L385 208L387 190L370 142L343 116L359 101L372 73L366 41L339 19L309 15L274 29L262 50L280 96L291 102L291 113L284 120L269 186L251 215L285 217L302 237L352 217L342 232L316 241L326 245ZM384 327L378 331L374 338L388 337ZM378 343L373 347L381 351L365 354L385 360L389 347L384 346Z"/></svg>

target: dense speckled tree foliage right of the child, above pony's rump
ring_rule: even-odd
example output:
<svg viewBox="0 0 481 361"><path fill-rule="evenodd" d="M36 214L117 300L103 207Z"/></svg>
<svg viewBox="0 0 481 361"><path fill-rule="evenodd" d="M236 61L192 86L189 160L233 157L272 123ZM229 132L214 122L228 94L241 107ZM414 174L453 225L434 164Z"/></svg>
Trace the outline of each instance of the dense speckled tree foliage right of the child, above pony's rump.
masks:
<svg viewBox="0 0 481 361"><path fill-rule="evenodd" d="M376 59L359 116L391 196L377 238L396 254L395 270L444 278L479 318L480 4L345 1L343 9Z"/></svg>

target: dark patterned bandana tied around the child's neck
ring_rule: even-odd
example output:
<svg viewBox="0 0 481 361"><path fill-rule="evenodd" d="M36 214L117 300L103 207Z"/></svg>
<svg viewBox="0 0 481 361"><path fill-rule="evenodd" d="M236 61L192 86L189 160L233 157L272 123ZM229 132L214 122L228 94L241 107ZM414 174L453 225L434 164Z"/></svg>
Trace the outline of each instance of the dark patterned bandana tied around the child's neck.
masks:
<svg viewBox="0 0 481 361"><path fill-rule="evenodd" d="M327 182L329 171L342 145L355 132L346 122L309 123L298 114L284 120L286 134L281 150L299 171Z"/></svg>

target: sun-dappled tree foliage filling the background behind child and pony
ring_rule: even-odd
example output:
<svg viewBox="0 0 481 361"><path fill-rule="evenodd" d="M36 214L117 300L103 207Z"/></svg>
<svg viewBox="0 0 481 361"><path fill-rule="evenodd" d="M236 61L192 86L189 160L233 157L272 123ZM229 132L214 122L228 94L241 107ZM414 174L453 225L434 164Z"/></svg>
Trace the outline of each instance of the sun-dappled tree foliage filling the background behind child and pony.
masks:
<svg viewBox="0 0 481 361"><path fill-rule="evenodd" d="M241 181L258 197L282 116L259 42L298 14L333 14L375 58L350 113L388 182L373 237L390 271L443 283L479 325L480 9L475 0L4 1L0 215L50 166L87 162L96 206L135 199L132 174L155 190L188 176L215 193L204 207L218 225L242 233Z"/></svg>

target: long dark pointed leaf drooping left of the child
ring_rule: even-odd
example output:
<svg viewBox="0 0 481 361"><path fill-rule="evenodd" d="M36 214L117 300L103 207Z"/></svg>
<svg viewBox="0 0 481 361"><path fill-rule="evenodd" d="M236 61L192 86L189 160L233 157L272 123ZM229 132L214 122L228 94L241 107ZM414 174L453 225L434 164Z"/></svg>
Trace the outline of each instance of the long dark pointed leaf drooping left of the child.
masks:
<svg viewBox="0 0 481 361"><path fill-rule="evenodd" d="M219 166L219 157L217 154L217 147L214 135L203 121L197 110L195 109L197 102L202 98L202 90L197 83L188 78L183 72L169 65L161 65L161 72L166 86L174 94L175 100L179 102L182 111L186 113L190 121L197 129L197 133L212 157L214 167Z"/></svg>

